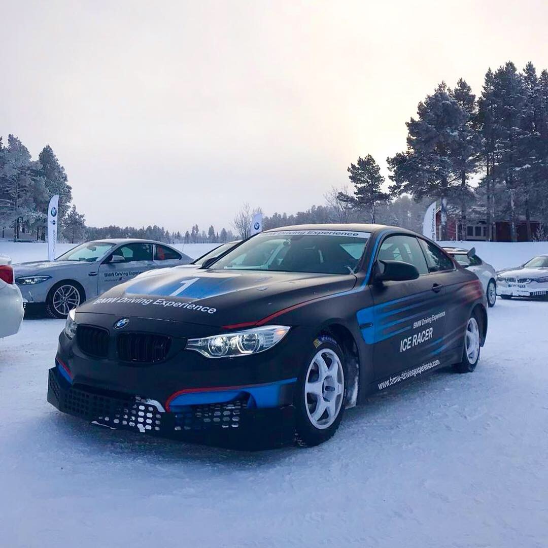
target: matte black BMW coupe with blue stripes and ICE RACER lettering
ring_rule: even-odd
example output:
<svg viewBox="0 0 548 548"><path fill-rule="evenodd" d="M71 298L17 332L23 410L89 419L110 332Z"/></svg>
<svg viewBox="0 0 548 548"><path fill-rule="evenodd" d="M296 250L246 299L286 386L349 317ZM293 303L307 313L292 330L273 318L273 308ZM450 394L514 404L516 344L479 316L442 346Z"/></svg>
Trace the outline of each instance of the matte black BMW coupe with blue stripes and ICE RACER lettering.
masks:
<svg viewBox="0 0 548 548"><path fill-rule="evenodd" d="M476 275L397 227L284 227L204 266L145 272L71 311L48 401L111 429L313 446L373 392L472 372L486 339Z"/></svg>

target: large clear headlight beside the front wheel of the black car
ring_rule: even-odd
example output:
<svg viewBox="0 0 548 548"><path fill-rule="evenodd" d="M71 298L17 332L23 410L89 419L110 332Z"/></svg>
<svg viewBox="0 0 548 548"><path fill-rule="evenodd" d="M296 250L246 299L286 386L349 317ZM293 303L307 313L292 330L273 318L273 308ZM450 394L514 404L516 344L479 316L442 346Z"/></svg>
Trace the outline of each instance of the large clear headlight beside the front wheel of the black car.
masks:
<svg viewBox="0 0 548 548"><path fill-rule="evenodd" d="M264 326L226 335L189 339L187 350L196 350L207 358L248 356L272 348L287 335L287 326Z"/></svg>

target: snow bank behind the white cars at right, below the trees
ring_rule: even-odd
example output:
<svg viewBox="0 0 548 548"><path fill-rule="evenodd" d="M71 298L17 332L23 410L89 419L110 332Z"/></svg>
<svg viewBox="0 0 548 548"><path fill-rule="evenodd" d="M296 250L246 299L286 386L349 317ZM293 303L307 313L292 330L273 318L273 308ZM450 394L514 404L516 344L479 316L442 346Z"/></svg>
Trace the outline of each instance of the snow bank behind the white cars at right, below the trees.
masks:
<svg viewBox="0 0 548 548"><path fill-rule="evenodd" d="M535 255L548 254L548 242L437 242L440 246L476 248L476 253L495 270L522 265ZM1 250L1 248L0 248Z"/></svg>

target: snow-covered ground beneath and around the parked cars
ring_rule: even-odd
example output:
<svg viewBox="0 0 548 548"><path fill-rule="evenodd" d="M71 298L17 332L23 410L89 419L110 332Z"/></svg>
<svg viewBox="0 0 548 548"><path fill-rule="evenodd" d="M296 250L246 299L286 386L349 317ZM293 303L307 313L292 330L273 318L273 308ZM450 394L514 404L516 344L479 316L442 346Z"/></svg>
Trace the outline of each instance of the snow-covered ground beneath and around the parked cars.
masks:
<svg viewBox="0 0 548 548"><path fill-rule="evenodd" d="M311 449L102 430L45 401L62 322L0 341L0 545L546 546L548 302L499 301L475 373L349 410Z"/></svg>

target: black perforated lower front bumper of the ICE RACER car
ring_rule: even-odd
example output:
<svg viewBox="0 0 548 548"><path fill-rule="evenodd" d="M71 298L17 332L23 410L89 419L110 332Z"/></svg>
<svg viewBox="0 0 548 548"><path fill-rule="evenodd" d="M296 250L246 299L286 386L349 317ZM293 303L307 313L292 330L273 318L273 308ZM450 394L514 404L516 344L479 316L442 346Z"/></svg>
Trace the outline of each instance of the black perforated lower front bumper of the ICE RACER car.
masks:
<svg viewBox="0 0 548 548"><path fill-rule="evenodd" d="M64 413L112 430L233 449L267 449L294 441L294 407L249 408L247 397L166 412L161 403L124 392L71 384L49 370L48 402Z"/></svg>

